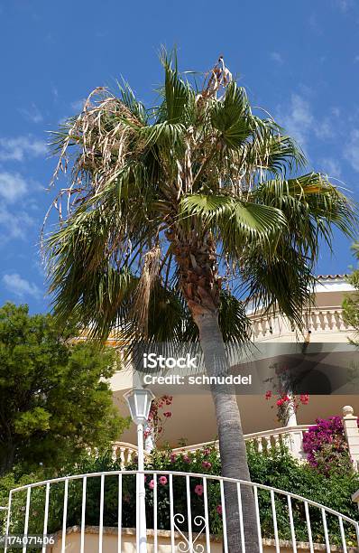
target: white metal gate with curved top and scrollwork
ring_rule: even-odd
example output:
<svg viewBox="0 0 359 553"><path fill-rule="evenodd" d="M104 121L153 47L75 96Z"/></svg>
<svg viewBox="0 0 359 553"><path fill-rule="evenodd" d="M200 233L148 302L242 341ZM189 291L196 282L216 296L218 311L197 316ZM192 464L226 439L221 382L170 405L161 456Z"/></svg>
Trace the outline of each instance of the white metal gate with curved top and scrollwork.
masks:
<svg viewBox="0 0 359 553"><path fill-rule="evenodd" d="M245 487L253 491L260 550L262 539L271 539L280 552L284 540L297 553L298 543L307 542L311 552L322 543L330 552L333 546L345 553L359 546L359 524L337 511L290 492L257 483L248 483L220 476L169 471L114 471L77 474L32 483L10 492L5 507L4 531L13 535L58 536L60 551L65 553L66 530L78 525L79 552L84 553L87 525L98 526L98 551L106 551L104 529L116 527L117 551L123 549L123 529L139 528L138 490L140 478L145 480L145 503L148 543L159 548L159 530L167 530L170 549L174 551L211 551L213 535L221 535L224 551L228 551L226 483L236 487L238 500L238 532L242 551L245 546ZM137 532L138 533L138 532ZM150 537L151 534L151 537ZM163 532L162 532L163 534ZM143 550L137 536L137 551ZM145 547L145 546L144 546ZM42 552L51 550L43 544ZM23 543L23 551L40 550ZM5 543L5 553L13 551Z"/></svg>

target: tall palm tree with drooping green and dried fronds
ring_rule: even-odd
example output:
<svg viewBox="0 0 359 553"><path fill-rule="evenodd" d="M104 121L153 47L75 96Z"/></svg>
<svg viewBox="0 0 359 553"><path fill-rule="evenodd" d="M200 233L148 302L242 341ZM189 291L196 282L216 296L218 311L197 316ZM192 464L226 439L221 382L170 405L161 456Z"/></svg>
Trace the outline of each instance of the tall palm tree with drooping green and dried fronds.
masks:
<svg viewBox="0 0 359 553"><path fill-rule="evenodd" d="M320 240L350 234L354 208L272 117L253 114L223 58L203 86L162 52L164 85L146 109L130 87L95 89L55 133L60 226L45 239L54 313L105 340L196 340L207 373L243 343L241 298L301 328ZM66 200L66 202L63 202ZM61 210L65 203L67 211ZM235 389L212 389L223 475L250 479ZM228 545L240 551L238 502L226 486ZM247 550L259 550L244 493Z"/></svg>

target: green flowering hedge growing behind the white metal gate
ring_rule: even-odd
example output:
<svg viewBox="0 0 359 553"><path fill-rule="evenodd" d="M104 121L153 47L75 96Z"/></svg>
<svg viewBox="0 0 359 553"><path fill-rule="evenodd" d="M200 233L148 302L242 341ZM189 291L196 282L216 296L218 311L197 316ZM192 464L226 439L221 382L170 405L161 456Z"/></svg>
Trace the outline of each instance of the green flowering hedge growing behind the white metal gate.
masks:
<svg viewBox="0 0 359 553"><path fill-rule="evenodd" d="M357 520L357 511L351 501L351 495L359 488L359 476L353 470L347 473L318 473L318 469L309 464L299 464L293 459L285 448L272 449L268 453L259 454L253 445L248 445L248 462L253 482L273 486L285 491L301 495L307 499L318 501L332 509L341 512ZM111 455L101 458L87 457L81 464L68 467L63 475L73 473L96 473L102 471L119 470L119 463L111 459ZM136 465L130 465L127 470L136 470ZM200 451L173 455L170 449L155 451L152 460L146 465L146 470L174 471L182 473L207 473L220 474L220 460L215 447L207 447ZM40 478L39 478L40 476ZM161 474L160 474L161 476ZM170 496L168 476L164 479L157 479L158 495L158 528L170 529ZM22 483L32 482L41 479L41 475L24 476ZM153 528L153 490L152 475L146 476L146 514L147 526ZM131 474L123 475L123 526L135 527L135 478ZM105 511L104 524L106 526L117 525L117 497L118 497L118 476L106 476L105 480ZM201 492L201 478L191 477L189 479L192 519L197 515L203 515L204 497ZM16 483L18 485L18 483ZM5 495L9 488L14 487L14 478L7 475L0 480L0 497L5 501ZM63 483L51 485L51 501L49 512L49 531L60 530L62 525L63 505ZM272 528L272 507L270 493L259 491L261 510L262 536L273 538ZM173 476L174 512L187 515L186 479L181 476ZM222 518L218 509L221 504L220 488L216 481L207 481L207 497L209 511L209 526L211 533L220 534L222 531ZM100 478L87 479L87 518L86 524L98 525L99 520L99 498ZM80 524L81 520L82 481L74 481L69 484L69 506L67 525ZM32 492L32 511L30 529L32 533L42 531L43 507L45 501L45 489ZM18 515L14 518L13 531L21 533L23 529L23 511L21 505L25 504L25 493L17 494L15 508L18 507ZM278 529L281 539L290 539L290 527L288 519L287 498L276 494L276 511ZM293 500L293 517L295 520L297 539L307 541L306 517L304 504L301 501ZM310 520L313 539L318 542L324 541L321 512L318 509L310 508ZM192 520L192 522L193 522ZM328 528L333 543L340 543L340 531L334 517L328 517ZM193 525L195 530L195 527ZM186 522L181 530L187 530ZM353 532L348 532L349 527L345 526L348 544L354 543Z"/></svg>

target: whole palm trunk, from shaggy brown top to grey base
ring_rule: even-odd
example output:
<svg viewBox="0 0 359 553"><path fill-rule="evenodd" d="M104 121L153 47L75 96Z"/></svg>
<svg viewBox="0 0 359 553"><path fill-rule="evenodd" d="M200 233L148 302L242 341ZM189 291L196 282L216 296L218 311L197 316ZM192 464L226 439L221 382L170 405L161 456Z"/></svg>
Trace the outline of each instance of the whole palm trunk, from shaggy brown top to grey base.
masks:
<svg viewBox="0 0 359 553"><path fill-rule="evenodd" d="M210 235L198 235L196 230L187 236L169 232L179 267L182 292L198 326L199 342L208 376L229 374L225 343L218 323L219 292L216 247ZM216 408L222 475L250 481L241 417L234 386L211 387ZM259 553L253 490L242 486L244 539L246 551ZM227 540L230 553L241 553L237 487L225 484Z"/></svg>

